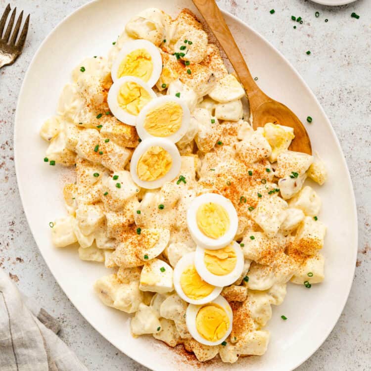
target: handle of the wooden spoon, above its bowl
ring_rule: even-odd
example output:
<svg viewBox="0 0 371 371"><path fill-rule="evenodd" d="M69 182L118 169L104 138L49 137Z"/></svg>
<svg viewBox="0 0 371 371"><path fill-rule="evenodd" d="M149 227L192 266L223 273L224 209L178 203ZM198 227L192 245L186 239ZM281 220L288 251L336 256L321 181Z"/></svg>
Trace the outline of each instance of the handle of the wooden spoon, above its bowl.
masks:
<svg viewBox="0 0 371 371"><path fill-rule="evenodd" d="M267 95L256 85L243 56L233 39L231 31L224 20L223 14L219 10L215 0L193 0L198 11L201 13L211 31L219 41L227 54L228 59L236 72L246 94L250 105L259 105L262 100L267 100Z"/></svg>

